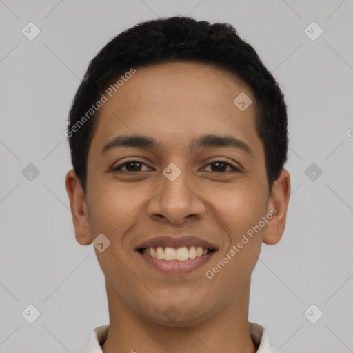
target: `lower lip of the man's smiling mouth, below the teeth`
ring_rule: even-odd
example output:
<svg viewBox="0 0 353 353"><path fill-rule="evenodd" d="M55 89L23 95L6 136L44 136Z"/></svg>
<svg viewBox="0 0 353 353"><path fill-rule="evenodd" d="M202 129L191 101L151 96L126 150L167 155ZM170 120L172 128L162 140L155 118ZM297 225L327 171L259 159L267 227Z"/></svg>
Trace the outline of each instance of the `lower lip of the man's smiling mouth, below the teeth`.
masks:
<svg viewBox="0 0 353 353"><path fill-rule="evenodd" d="M141 254L139 251L137 251L137 254L141 256L141 259L143 259L145 263L148 263L148 265L152 268L159 270L159 272L162 272L163 274L185 274L201 268L203 265L208 263L208 261L210 261L212 256L215 254L215 251L210 252L210 254L185 261L154 259L154 257Z"/></svg>

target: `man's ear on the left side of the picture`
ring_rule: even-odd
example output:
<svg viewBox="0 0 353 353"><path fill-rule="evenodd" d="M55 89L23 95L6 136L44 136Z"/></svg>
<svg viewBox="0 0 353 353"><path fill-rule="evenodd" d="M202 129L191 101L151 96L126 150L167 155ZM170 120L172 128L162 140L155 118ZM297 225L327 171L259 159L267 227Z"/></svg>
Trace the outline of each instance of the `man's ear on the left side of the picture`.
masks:
<svg viewBox="0 0 353 353"><path fill-rule="evenodd" d="M92 243L92 234L90 232L85 193L73 169L69 170L66 174L65 187L70 199L72 223L74 223L76 240L81 245L89 245Z"/></svg>

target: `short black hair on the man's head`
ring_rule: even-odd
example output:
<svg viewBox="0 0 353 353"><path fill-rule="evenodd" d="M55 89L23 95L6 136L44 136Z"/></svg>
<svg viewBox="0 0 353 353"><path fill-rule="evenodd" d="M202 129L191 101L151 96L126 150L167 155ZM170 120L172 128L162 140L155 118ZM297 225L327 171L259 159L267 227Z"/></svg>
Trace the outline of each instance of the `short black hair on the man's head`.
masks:
<svg viewBox="0 0 353 353"><path fill-rule="evenodd" d="M94 104L112 82L131 68L168 61L211 64L248 85L255 97L256 131L263 143L271 192L288 153L287 109L281 89L254 48L229 23L210 24L183 16L138 23L110 40L90 61L72 101L65 130L72 166L84 192L88 151L99 118Z"/></svg>

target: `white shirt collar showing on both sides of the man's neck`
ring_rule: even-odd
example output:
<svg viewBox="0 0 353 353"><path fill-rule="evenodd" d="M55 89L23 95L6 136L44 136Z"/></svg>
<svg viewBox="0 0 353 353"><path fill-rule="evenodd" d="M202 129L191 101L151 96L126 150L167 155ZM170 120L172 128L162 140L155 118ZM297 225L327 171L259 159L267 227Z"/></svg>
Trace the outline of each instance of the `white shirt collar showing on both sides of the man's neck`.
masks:
<svg viewBox="0 0 353 353"><path fill-rule="evenodd" d="M103 345L105 339L107 339L108 330L109 325L103 325L95 328L91 334L88 350L86 350L85 353L103 353L101 345ZM249 323L249 330L254 345L258 347L256 353L281 353L277 350L274 350L270 346L268 333L264 327L258 325L257 323Z"/></svg>

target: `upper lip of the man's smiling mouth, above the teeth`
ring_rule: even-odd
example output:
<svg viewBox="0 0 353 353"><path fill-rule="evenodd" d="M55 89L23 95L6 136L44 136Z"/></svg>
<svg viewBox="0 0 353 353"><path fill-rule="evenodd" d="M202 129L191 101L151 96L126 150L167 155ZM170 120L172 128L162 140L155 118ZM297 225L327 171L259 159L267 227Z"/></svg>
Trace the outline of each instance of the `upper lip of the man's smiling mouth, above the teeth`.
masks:
<svg viewBox="0 0 353 353"><path fill-rule="evenodd" d="M148 239L140 243L135 250L145 249L150 247L158 247L162 248L182 248L183 246L202 246L205 249L214 249L217 250L216 245L209 243L203 239L198 238L197 236L178 236L177 238L173 238L172 236L157 236L152 239Z"/></svg>

